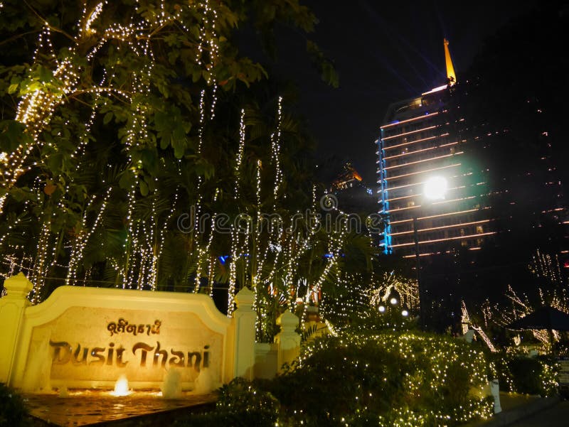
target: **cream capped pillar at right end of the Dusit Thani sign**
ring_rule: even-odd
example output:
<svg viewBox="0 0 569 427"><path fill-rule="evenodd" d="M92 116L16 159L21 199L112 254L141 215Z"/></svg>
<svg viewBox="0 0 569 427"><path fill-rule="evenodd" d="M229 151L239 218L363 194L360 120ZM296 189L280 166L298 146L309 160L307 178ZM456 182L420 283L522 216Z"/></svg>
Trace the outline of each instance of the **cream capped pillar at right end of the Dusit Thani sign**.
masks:
<svg viewBox="0 0 569 427"><path fill-rule="evenodd" d="M255 320L257 313L253 310L255 293L248 288L241 289L235 295L237 310L233 312L233 328L235 330L233 349L233 377L252 379L255 364Z"/></svg>

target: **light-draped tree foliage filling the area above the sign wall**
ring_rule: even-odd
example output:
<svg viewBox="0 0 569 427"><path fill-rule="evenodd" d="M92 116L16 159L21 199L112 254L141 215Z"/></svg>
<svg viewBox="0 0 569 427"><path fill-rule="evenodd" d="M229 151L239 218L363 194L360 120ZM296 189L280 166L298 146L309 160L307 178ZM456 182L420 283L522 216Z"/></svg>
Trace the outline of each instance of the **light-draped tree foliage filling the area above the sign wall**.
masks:
<svg viewBox="0 0 569 427"><path fill-rule="evenodd" d="M243 28L269 48L293 28L336 85L316 22L297 0L3 1L0 275L23 271L32 303L63 284L217 288L229 313L248 286L270 341L286 306L365 269L369 239L294 217L319 215L314 144L238 49Z"/></svg>

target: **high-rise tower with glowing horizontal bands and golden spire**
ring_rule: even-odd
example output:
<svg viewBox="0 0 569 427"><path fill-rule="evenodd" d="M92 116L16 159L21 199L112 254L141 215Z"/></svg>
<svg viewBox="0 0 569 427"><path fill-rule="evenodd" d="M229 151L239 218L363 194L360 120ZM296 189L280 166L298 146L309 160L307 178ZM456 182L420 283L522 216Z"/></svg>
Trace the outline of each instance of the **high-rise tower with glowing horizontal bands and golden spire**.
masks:
<svg viewBox="0 0 569 427"><path fill-rule="evenodd" d="M445 40L447 85L391 104L378 139L385 253L421 256L477 250L490 231L479 168L464 152L461 119L449 111L457 81Z"/></svg>

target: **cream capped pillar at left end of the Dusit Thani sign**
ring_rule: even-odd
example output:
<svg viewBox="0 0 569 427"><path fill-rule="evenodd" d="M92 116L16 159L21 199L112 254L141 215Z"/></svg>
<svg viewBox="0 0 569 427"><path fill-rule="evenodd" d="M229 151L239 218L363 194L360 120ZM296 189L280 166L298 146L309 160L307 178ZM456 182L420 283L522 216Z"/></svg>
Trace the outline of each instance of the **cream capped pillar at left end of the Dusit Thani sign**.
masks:
<svg viewBox="0 0 569 427"><path fill-rule="evenodd" d="M18 273L4 281L4 288L6 295L0 298L0 382L10 385L24 310L31 305L26 296L33 284Z"/></svg>

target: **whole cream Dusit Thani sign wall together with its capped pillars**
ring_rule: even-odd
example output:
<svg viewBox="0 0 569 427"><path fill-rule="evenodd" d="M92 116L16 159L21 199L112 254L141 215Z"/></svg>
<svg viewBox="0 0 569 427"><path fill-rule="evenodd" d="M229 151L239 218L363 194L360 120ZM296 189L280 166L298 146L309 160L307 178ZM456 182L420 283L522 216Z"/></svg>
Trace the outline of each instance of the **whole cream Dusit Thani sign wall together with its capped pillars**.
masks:
<svg viewBox="0 0 569 427"><path fill-rule="evenodd" d="M0 382L24 391L112 389L121 377L132 389L157 390L175 374L182 390L208 393L234 377L251 379L261 366L263 377L273 376L298 354L298 318L285 313L277 357L267 359L278 366L256 356L247 288L235 296L233 318L203 294L60 286L31 306L26 276L6 279L4 288Z"/></svg>

